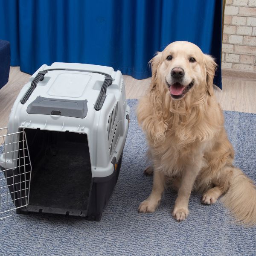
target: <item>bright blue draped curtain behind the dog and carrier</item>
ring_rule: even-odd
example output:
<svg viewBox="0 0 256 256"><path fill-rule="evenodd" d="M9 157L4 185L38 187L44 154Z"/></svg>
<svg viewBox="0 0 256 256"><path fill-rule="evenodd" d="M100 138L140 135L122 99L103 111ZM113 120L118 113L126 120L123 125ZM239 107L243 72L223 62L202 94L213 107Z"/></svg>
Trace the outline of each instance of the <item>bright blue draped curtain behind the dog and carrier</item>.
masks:
<svg viewBox="0 0 256 256"><path fill-rule="evenodd" d="M136 79L173 41L213 55L221 87L221 0L0 0L0 39L11 65L32 74L42 64L111 66Z"/></svg>

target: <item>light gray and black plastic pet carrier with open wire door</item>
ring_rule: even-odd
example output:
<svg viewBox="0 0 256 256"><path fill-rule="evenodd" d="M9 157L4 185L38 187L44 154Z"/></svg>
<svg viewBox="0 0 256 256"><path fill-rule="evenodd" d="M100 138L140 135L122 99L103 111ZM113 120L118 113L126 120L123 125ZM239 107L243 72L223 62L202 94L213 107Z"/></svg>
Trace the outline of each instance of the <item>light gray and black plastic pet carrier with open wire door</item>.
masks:
<svg viewBox="0 0 256 256"><path fill-rule="evenodd" d="M119 175L128 125L120 71L40 67L1 130L0 218L16 209L99 221Z"/></svg>

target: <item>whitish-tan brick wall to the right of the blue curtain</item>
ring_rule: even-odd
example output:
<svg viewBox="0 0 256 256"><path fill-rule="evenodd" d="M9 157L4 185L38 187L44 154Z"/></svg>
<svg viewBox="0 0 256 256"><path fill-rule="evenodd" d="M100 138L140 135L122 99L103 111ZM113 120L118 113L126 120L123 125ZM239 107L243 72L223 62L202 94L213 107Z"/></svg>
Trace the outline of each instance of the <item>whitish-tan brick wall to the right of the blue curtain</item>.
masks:
<svg viewBox="0 0 256 256"><path fill-rule="evenodd" d="M222 67L256 71L256 0L226 0Z"/></svg>

